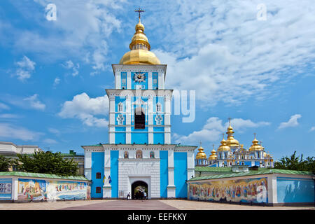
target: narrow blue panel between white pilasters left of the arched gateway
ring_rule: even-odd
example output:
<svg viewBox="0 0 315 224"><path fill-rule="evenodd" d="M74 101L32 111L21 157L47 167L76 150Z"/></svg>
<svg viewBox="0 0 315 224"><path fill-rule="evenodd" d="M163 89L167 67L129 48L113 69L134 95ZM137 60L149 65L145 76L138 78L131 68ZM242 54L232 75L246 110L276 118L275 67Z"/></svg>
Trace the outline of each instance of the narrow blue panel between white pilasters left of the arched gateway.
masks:
<svg viewBox="0 0 315 224"><path fill-rule="evenodd" d="M118 156L119 151L111 151L111 197L118 197Z"/></svg>

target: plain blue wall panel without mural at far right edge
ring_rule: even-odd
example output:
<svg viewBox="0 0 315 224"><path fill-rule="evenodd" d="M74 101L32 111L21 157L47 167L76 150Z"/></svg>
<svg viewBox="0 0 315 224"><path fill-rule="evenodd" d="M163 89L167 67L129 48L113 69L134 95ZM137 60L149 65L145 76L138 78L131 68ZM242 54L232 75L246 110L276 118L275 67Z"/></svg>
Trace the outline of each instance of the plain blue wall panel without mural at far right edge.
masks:
<svg viewBox="0 0 315 224"><path fill-rule="evenodd" d="M314 202L314 181L277 177L276 193L278 203Z"/></svg>

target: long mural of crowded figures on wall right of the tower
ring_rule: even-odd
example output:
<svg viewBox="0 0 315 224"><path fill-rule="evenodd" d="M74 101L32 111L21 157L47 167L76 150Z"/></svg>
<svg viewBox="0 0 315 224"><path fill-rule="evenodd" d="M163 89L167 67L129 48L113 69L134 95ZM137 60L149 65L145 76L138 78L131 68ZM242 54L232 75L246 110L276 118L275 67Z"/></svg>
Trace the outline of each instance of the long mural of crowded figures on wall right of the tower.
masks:
<svg viewBox="0 0 315 224"><path fill-rule="evenodd" d="M267 178L189 183L189 199L267 203Z"/></svg>

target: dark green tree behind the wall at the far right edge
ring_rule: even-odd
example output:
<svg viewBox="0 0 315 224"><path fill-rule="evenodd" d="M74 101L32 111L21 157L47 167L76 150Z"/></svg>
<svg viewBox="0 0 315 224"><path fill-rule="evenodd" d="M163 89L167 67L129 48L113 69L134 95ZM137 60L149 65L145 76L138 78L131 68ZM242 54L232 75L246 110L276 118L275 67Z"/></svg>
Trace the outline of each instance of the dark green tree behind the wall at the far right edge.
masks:
<svg viewBox="0 0 315 224"><path fill-rule="evenodd" d="M309 171L315 174L314 157L307 157L306 160L303 160L303 154L301 154L301 157L295 154L296 151L290 157L282 157L279 162L274 162L274 168Z"/></svg>

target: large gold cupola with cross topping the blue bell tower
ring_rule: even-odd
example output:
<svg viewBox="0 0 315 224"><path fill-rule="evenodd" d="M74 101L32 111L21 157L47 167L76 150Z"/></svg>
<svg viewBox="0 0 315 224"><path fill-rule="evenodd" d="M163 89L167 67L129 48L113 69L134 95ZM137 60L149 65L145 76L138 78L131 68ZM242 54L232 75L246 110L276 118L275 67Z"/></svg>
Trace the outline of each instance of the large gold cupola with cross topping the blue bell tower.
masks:
<svg viewBox="0 0 315 224"><path fill-rule="evenodd" d="M130 51L120 59L119 64L161 64L158 57L150 51L151 45L144 34L144 25L141 23L140 13L144 12L140 8L135 10L139 13L139 23L136 25L136 33L132 37L129 45Z"/></svg>

